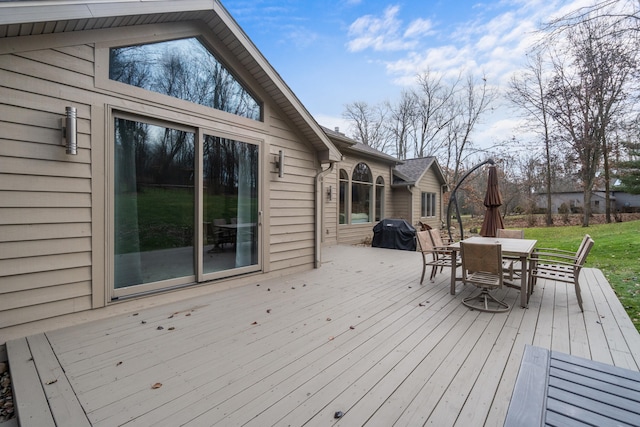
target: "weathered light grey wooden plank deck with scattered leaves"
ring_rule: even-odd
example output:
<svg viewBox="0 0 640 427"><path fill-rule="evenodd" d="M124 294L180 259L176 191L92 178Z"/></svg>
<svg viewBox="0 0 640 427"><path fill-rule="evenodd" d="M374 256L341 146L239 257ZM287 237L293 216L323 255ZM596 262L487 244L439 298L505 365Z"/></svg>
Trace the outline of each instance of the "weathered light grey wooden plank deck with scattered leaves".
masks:
<svg viewBox="0 0 640 427"><path fill-rule="evenodd" d="M541 281L528 309L505 288L511 311L490 314L461 304L474 288L449 293L448 271L421 286L418 253L323 258L7 343L22 425L46 412L44 391L59 426L502 426L525 344L639 370L640 335L599 270L583 271L584 313L572 288Z"/></svg>

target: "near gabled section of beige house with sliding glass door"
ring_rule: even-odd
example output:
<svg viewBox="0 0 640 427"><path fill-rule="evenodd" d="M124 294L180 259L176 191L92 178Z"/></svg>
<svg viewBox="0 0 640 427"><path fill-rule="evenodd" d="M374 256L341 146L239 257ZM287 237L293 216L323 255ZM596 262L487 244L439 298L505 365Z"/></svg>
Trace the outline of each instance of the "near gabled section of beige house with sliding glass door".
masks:
<svg viewBox="0 0 640 427"><path fill-rule="evenodd" d="M219 1L1 2L0 38L0 329L320 264L342 154Z"/></svg>

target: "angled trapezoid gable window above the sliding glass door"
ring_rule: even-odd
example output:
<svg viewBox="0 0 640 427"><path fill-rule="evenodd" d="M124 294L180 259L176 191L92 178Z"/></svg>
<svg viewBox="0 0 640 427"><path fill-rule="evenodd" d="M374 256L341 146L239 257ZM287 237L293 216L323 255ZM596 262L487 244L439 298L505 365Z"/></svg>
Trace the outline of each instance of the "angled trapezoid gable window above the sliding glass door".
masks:
<svg viewBox="0 0 640 427"><path fill-rule="evenodd" d="M112 48L109 78L261 120L258 101L195 37Z"/></svg>

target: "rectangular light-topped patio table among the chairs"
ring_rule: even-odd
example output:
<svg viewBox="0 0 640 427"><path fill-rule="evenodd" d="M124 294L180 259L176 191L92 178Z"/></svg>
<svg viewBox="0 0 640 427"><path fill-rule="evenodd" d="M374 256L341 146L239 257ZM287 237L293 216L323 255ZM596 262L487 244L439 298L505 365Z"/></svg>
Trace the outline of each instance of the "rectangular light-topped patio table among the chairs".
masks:
<svg viewBox="0 0 640 427"><path fill-rule="evenodd" d="M527 280L527 260L533 253L537 240L533 239L509 239L499 237L469 237L464 239L465 242L470 243L500 243L502 245L502 256L505 258L518 258L520 260L520 286L513 284L513 287L520 289L520 306L526 308L529 304L529 295L531 289L528 286ZM448 246L451 249L452 257L456 257L460 250L460 242L452 243ZM456 266L455 263L451 265L451 295L456 294Z"/></svg>

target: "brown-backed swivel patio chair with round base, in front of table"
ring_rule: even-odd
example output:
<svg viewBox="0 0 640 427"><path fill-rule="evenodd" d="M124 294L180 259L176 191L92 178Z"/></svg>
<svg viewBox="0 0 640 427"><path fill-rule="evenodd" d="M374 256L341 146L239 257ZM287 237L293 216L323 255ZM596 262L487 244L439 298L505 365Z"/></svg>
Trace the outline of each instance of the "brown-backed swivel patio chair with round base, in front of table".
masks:
<svg viewBox="0 0 640 427"><path fill-rule="evenodd" d="M510 306L491 295L502 288L502 246L499 243L460 242L462 254L462 281L480 288L480 293L462 300L469 308L490 313L503 313Z"/></svg>

